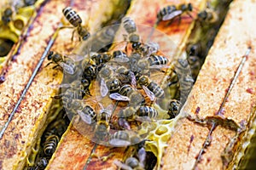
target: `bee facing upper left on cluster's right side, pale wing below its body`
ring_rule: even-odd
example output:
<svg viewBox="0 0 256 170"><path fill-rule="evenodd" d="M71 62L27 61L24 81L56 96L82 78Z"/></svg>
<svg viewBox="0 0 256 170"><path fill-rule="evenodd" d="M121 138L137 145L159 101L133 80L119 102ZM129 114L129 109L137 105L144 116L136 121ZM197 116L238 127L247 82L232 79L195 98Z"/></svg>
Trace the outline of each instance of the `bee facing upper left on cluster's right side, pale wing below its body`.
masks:
<svg viewBox="0 0 256 170"><path fill-rule="evenodd" d="M156 82L151 81L149 77L139 77L137 83L143 88L149 99L151 99L152 101L154 100L154 97L164 98L164 90L160 88L160 86Z"/></svg>

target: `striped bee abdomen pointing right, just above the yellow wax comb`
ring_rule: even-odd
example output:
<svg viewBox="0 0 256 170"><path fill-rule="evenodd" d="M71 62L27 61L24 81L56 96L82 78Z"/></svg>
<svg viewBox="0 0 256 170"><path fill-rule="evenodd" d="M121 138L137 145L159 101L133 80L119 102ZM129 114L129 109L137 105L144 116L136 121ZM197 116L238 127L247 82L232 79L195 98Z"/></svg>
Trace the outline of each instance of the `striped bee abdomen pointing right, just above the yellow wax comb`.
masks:
<svg viewBox="0 0 256 170"><path fill-rule="evenodd" d="M137 110L137 116L154 119L158 116L158 112L154 109L154 107L150 106L140 106Z"/></svg>

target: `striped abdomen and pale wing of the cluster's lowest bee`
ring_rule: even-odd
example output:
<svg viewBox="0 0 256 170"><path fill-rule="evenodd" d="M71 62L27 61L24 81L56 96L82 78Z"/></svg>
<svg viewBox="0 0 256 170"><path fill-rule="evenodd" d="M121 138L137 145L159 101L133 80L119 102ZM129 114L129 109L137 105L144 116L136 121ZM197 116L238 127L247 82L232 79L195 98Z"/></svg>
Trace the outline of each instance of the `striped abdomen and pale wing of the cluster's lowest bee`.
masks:
<svg viewBox="0 0 256 170"><path fill-rule="evenodd" d="M114 147L128 146L131 144L129 133L117 131L111 135L108 143Z"/></svg>

